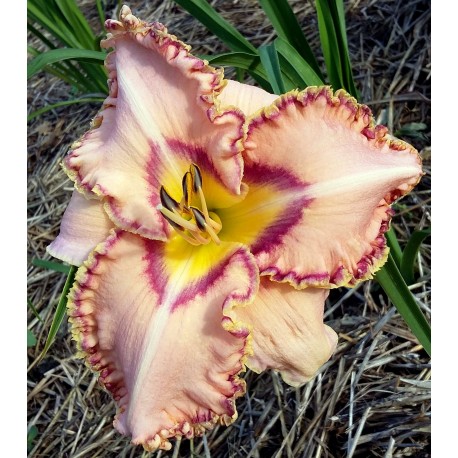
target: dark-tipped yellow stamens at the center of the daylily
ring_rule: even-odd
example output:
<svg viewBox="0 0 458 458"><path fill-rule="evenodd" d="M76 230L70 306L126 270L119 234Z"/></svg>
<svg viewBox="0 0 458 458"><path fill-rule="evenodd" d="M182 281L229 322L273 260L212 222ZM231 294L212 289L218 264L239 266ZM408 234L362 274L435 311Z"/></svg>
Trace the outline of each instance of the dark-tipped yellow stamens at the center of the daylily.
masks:
<svg viewBox="0 0 458 458"><path fill-rule="evenodd" d="M183 197L179 203L161 186L161 205L158 210L191 245L206 245L212 240L219 245L221 241L217 234L222 227L221 220L218 215L208 211L202 190L202 173L196 164L191 164L181 183ZM198 197L200 208L191 205L194 196Z"/></svg>

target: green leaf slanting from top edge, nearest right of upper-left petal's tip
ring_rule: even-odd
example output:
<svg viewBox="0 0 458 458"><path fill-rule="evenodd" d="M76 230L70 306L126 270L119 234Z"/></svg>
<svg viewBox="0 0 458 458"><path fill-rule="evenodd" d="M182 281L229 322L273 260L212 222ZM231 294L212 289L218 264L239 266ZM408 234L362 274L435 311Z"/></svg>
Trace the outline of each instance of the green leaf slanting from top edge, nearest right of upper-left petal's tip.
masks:
<svg viewBox="0 0 458 458"><path fill-rule="evenodd" d="M231 51L255 53L256 48L229 22L223 19L206 0L175 0L198 21L219 37Z"/></svg>

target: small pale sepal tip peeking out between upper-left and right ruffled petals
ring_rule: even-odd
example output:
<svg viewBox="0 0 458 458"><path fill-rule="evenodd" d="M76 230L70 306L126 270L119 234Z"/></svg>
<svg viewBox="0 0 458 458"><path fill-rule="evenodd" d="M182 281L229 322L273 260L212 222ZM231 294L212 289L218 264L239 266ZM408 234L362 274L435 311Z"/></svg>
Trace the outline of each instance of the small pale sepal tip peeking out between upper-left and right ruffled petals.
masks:
<svg viewBox="0 0 458 458"><path fill-rule="evenodd" d="M251 116L261 108L270 105L278 95L269 94L264 89L237 81L228 80L224 91L218 96L222 106L236 106L246 116Z"/></svg>

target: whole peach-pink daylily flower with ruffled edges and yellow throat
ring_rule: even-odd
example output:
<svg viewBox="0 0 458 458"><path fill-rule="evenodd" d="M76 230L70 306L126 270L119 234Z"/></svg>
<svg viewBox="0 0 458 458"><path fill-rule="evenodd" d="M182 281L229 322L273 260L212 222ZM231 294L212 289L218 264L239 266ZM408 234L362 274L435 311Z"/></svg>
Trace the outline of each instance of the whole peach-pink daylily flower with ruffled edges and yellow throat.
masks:
<svg viewBox="0 0 458 458"><path fill-rule="evenodd" d="M245 366L297 386L329 359L328 291L385 262L421 164L342 90L226 81L127 7L106 27L109 96L64 161L48 251L81 266L72 333L116 429L168 450L235 420Z"/></svg>

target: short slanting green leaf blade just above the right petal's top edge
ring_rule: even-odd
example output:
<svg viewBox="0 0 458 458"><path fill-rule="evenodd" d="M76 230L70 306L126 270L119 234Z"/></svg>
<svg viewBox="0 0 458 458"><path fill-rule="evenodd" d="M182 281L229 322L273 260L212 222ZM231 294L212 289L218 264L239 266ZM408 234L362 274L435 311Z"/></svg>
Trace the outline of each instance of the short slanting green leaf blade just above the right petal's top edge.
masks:
<svg viewBox="0 0 458 458"><path fill-rule="evenodd" d="M278 51L283 75L286 75L295 88L321 86L323 80L303 57L285 40L277 38L275 48Z"/></svg>

